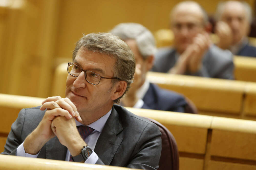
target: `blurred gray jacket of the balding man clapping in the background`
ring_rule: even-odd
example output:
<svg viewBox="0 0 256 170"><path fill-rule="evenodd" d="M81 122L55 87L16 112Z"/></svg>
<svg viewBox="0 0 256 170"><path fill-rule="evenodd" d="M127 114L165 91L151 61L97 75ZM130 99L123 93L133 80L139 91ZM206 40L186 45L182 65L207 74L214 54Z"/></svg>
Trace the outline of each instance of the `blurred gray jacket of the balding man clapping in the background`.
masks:
<svg viewBox="0 0 256 170"><path fill-rule="evenodd" d="M176 50L173 48L159 49L152 71L167 73L176 64L175 53ZM233 70L232 53L212 45L204 55L201 69L194 74L186 75L233 79Z"/></svg>

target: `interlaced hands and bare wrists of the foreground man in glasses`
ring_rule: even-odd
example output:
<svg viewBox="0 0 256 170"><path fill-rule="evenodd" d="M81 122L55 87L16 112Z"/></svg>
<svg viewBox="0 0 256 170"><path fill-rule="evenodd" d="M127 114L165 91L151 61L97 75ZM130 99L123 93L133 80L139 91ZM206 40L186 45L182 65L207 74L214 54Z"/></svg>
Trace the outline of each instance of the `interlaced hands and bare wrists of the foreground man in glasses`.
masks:
<svg viewBox="0 0 256 170"><path fill-rule="evenodd" d="M82 122L76 106L69 98L54 96L42 102L40 110L45 109L47 110L41 122L24 141L25 152L37 154L47 141L57 136L60 143L69 149L71 155L79 154L81 148L80 151L76 150L76 145L83 146L85 142L76 128L75 119Z"/></svg>

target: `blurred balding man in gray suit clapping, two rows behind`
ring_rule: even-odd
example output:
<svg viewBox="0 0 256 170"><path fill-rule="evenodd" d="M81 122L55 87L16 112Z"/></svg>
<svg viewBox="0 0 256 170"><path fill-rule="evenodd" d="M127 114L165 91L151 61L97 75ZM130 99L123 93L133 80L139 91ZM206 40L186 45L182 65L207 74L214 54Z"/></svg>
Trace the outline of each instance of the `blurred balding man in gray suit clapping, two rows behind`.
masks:
<svg viewBox="0 0 256 170"><path fill-rule="evenodd" d="M232 53L214 46L206 12L193 1L177 4L170 13L174 48L160 49L152 71L233 79Z"/></svg>

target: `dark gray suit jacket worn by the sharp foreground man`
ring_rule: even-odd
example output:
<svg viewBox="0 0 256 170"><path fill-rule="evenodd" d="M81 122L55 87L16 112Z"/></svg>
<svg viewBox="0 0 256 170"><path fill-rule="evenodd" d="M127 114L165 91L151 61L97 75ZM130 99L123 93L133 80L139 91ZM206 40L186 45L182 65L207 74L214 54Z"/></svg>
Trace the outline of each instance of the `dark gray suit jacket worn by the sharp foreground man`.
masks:
<svg viewBox="0 0 256 170"><path fill-rule="evenodd" d="M45 114L39 108L27 108L19 112L1 154L16 155L17 147L38 126ZM158 168L160 136L154 123L114 105L94 149L99 156L97 164L138 169ZM42 147L38 158L65 160L66 153L67 148L55 137Z"/></svg>

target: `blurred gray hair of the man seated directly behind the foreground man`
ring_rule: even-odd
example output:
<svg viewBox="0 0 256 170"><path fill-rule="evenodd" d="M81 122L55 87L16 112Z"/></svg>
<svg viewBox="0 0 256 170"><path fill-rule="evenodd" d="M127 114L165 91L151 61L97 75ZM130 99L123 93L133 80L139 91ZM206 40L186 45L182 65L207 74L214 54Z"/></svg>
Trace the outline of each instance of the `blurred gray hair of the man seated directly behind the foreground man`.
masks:
<svg viewBox="0 0 256 170"><path fill-rule="evenodd" d="M144 59L147 59L150 55L154 55L157 51L154 36L141 24L121 23L116 25L110 32L119 36L124 41L134 39Z"/></svg>

